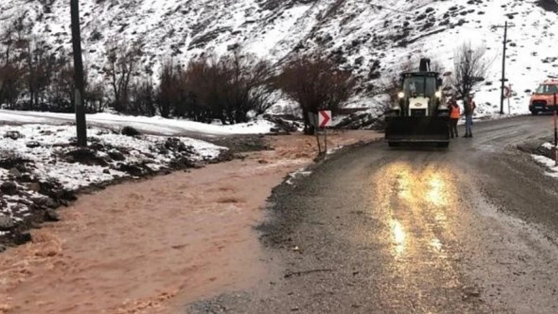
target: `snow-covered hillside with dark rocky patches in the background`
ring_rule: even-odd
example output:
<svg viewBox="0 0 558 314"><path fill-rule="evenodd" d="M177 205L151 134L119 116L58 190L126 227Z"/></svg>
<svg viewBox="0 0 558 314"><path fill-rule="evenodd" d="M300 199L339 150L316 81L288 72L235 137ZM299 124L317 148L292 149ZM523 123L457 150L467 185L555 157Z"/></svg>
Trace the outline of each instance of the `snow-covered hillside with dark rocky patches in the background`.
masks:
<svg viewBox="0 0 558 314"><path fill-rule="evenodd" d="M374 4L381 4L378 7ZM102 78L105 44L141 40L143 62L157 71L169 57L185 62L203 52L240 47L280 63L296 51L334 55L353 69L363 87L397 73L409 58L430 56L447 70L457 46L484 45L492 61L477 90L484 112L497 110L503 29L509 30L508 78L515 112L527 111L527 90L558 77L554 51L555 0L81 0L85 61ZM69 2L10 0L0 3L0 23L25 14L33 32L48 36L52 50L70 49ZM371 104L353 99L354 105Z"/></svg>

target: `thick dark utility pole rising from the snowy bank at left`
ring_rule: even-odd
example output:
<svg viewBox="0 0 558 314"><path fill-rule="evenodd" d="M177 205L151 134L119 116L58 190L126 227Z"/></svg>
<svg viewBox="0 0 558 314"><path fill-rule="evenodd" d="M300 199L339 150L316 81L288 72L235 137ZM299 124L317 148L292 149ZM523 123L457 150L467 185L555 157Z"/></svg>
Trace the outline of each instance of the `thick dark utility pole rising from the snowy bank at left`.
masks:
<svg viewBox="0 0 558 314"><path fill-rule="evenodd" d="M78 146L87 146L87 127L85 122L85 108L83 102L84 78L83 60L81 59L81 32L79 23L79 0L70 0L71 40L74 50L74 106L75 124L78 134Z"/></svg>

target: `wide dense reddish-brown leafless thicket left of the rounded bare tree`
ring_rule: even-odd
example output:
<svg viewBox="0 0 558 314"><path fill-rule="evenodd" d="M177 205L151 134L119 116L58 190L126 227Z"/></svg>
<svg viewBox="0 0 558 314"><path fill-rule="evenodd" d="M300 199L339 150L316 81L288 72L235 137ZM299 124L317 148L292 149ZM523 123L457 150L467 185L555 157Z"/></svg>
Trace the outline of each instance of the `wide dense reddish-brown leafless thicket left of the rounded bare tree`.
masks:
<svg viewBox="0 0 558 314"><path fill-rule="evenodd" d="M157 91L160 113L200 122L247 122L248 112L260 114L271 107L270 69L268 62L236 52L190 60L185 69L167 61Z"/></svg>

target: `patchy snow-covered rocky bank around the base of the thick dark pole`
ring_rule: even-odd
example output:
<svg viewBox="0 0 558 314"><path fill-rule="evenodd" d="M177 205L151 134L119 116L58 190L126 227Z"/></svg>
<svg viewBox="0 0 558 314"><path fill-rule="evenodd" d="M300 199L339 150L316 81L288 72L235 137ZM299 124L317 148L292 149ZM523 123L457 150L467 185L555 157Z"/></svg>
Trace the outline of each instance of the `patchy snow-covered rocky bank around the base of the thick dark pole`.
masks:
<svg viewBox="0 0 558 314"><path fill-rule="evenodd" d="M28 206L33 204L33 200L46 197L38 193L37 187L32 187L37 182L54 182L66 191L75 191L131 177L133 173L127 167L136 167L136 171L141 173L157 172L171 168L172 163L183 158L192 163L213 160L226 150L184 137L128 137L99 128L89 128L88 132L93 162L90 158L86 161L73 159L71 153L76 147L71 143L75 127L70 125L0 126L0 161L5 167L0 168L0 185L13 182L18 187L15 195L2 194L0 205L5 206L0 206L0 214L11 217L16 223L30 215ZM13 159L25 162L6 166ZM27 178L22 178L23 175Z"/></svg>

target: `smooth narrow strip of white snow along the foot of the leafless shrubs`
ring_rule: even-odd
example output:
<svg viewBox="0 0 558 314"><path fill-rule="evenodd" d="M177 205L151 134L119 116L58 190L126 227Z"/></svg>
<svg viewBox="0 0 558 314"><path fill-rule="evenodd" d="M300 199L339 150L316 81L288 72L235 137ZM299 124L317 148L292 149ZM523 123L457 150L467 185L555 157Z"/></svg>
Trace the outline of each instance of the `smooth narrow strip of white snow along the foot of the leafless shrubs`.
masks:
<svg viewBox="0 0 558 314"><path fill-rule="evenodd" d="M273 123L262 119L234 125L215 125L189 120L165 119L161 117L133 117L109 113L88 114L86 120L88 123L105 128L120 129L129 126L144 133L163 134L168 136L180 135L188 132L210 135L263 134L270 133L270 128L275 126ZM15 124L65 124L74 123L75 114L0 110L0 121Z"/></svg>

